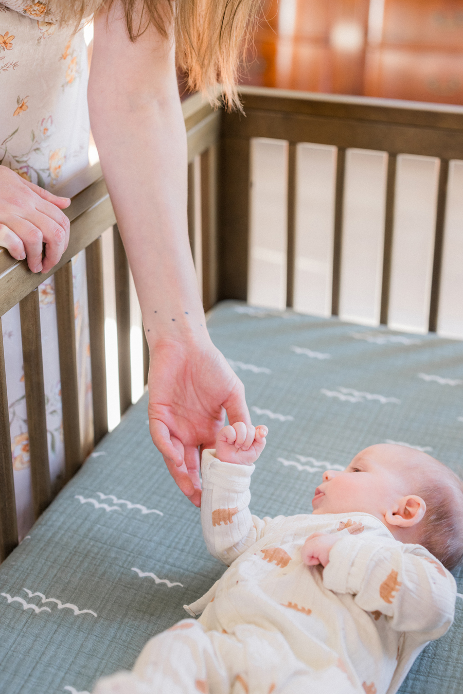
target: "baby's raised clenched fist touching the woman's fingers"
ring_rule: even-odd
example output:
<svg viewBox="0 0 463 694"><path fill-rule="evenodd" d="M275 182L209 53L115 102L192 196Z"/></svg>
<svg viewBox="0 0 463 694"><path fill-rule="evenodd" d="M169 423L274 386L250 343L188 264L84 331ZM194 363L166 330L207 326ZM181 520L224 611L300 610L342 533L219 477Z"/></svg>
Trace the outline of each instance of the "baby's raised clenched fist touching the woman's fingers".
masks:
<svg viewBox="0 0 463 694"><path fill-rule="evenodd" d="M256 428L253 425L246 427L244 422L228 425L217 434L215 457L224 463L252 465L264 450L268 433L264 425Z"/></svg>

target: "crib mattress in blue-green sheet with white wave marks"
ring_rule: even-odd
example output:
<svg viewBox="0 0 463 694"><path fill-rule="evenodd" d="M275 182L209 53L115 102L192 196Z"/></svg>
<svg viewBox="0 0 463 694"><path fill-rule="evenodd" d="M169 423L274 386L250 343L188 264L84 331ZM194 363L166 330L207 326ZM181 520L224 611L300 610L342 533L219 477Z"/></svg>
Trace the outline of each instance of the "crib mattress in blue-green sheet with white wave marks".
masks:
<svg viewBox="0 0 463 694"><path fill-rule="evenodd" d="M329 466L385 441L463 475L463 343L224 302L210 334L269 426L251 485L260 516L311 511ZM144 396L0 567L0 691L71 694L131 668L224 571L149 436ZM463 571L454 572L463 593ZM460 694L463 600L401 694Z"/></svg>

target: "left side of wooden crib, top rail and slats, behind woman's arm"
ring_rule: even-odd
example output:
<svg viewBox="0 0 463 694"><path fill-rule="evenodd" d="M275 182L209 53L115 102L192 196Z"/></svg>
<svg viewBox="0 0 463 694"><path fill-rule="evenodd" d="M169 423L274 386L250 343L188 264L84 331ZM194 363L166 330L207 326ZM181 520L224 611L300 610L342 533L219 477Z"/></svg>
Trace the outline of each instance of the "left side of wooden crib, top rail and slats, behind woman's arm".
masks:
<svg viewBox="0 0 463 694"><path fill-rule="evenodd" d="M183 103L187 128L189 160L190 239L201 266L203 294L207 307L215 300L214 291L214 166L219 137L220 113L214 112L200 96ZM65 444L65 477L67 482L83 464L81 445L74 328L74 296L71 258L85 248L87 295L90 327L90 359L94 443L108 431L106 400L106 355L103 307L103 262L101 234L113 227L115 285L117 308L117 346L119 356L119 398L121 414L131 405L131 346L129 270L124 246L117 229L108 189L101 167L95 164L73 178L60 190L71 197L65 213L71 222L69 246L60 262L47 274L34 274L25 261L14 260L0 248L0 328L1 316L19 303L22 325L22 350L28 439L31 460L31 483L34 516L38 518L59 491L53 488L49 472L47 421L42 366L42 343L38 287L54 275L58 349L61 375L62 421ZM196 213L195 213L196 210ZM201 226L203 248L201 248ZM202 287L201 287L202 288ZM148 350L144 343L144 382L148 375ZM0 339L0 561L17 545L15 487L10 443L10 422L6 389L3 339Z"/></svg>

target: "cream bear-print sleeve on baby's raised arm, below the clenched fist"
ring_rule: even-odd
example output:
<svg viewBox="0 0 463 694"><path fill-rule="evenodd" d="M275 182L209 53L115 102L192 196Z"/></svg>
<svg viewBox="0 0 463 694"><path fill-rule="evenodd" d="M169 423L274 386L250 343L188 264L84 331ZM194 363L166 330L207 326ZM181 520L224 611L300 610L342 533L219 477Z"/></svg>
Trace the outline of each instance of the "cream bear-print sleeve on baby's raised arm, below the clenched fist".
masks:
<svg viewBox="0 0 463 694"><path fill-rule="evenodd" d="M276 519L261 520L249 511L249 484L255 466L224 463L214 453L203 450L201 460L201 525L210 554L230 566Z"/></svg>

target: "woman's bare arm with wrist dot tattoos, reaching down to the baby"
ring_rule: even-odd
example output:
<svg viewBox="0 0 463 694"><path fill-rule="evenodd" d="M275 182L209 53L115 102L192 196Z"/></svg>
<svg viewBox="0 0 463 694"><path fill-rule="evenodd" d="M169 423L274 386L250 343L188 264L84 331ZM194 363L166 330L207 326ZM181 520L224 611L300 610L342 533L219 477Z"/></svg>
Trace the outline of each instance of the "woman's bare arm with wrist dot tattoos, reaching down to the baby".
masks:
<svg viewBox="0 0 463 694"><path fill-rule="evenodd" d="M154 26L131 42L115 3L95 17L92 132L150 348L149 421L174 480L200 505L198 446L250 424L244 387L205 326L187 230L187 138L173 39Z"/></svg>

